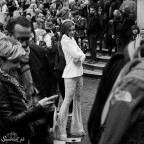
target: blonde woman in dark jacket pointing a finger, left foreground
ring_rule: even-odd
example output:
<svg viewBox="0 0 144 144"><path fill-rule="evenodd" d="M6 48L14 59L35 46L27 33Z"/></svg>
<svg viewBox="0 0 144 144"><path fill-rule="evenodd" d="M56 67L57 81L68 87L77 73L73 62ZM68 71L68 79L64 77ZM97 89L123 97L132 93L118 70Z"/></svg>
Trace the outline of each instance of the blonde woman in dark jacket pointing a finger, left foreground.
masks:
<svg viewBox="0 0 144 144"><path fill-rule="evenodd" d="M25 88L16 75L25 55L18 41L6 36L0 38L0 143L17 140L33 144L34 127L53 108L56 98L44 98L29 105Z"/></svg>

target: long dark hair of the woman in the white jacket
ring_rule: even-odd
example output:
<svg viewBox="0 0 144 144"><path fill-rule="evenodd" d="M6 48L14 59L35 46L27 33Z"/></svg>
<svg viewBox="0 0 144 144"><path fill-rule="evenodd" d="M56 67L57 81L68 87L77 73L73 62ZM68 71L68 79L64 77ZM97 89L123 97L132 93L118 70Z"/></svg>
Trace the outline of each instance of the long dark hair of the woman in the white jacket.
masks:
<svg viewBox="0 0 144 144"><path fill-rule="evenodd" d="M64 34L68 36L69 30L72 26L74 26L74 23L71 21L66 21L60 26L60 39L59 39L60 41Z"/></svg>

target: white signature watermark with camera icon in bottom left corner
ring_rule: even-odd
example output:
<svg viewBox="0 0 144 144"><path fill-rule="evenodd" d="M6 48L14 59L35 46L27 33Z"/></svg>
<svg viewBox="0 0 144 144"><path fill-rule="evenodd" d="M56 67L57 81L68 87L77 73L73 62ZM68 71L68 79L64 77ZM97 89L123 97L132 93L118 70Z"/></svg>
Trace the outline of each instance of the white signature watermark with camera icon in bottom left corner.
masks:
<svg viewBox="0 0 144 144"><path fill-rule="evenodd" d="M3 143L9 143L9 142L14 142L14 143L23 143L25 141L25 138L24 137L18 137L17 133L15 132L11 132L11 133L8 133L7 135L3 136L1 141ZM28 142L28 144L30 144L30 142Z"/></svg>

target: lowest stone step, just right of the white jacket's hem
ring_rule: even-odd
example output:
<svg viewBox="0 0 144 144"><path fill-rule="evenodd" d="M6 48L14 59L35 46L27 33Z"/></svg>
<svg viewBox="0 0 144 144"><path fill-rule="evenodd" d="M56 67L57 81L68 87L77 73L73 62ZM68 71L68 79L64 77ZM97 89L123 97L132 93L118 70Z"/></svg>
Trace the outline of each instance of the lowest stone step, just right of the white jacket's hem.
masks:
<svg viewBox="0 0 144 144"><path fill-rule="evenodd" d="M92 71L92 70L84 69L84 76L100 79L102 76L102 70Z"/></svg>

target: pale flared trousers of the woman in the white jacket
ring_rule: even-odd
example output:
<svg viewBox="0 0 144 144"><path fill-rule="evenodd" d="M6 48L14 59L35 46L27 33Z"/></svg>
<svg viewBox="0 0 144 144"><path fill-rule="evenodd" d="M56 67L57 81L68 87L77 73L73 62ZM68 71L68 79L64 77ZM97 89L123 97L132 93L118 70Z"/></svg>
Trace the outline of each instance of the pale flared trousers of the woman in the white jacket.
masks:
<svg viewBox="0 0 144 144"><path fill-rule="evenodd" d="M83 92L83 78L65 78L65 98L59 113L59 131L60 135L66 135L66 126L68 120L68 111L70 103L73 100L73 113L71 123L71 133L75 134L83 130L82 114L81 114L81 96Z"/></svg>

